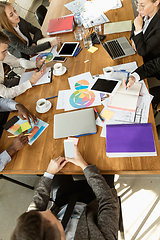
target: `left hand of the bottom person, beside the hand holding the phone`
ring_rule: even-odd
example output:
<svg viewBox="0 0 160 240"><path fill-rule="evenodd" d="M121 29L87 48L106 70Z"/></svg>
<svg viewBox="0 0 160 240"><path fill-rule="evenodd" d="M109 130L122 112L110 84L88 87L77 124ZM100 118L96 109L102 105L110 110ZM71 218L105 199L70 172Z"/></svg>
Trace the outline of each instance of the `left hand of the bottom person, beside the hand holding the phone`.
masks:
<svg viewBox="0 0 160 240"><path fill-rule="evenodd" d="M47 172L55 175L57 172L59 172L67 163L68 161L64 157L58 157L56 159L51 159Z"/></svg>

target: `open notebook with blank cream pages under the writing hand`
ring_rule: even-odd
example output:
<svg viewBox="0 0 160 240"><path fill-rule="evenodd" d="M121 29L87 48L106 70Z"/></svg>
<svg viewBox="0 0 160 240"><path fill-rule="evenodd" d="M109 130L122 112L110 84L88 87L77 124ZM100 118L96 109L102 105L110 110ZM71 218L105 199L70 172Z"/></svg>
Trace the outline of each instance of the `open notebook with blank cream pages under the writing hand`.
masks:
<svg viewBox="0 0 160 240"><path fill-rule="evenodd" d="M141 83L134 83L126 90L126 87L121 83L116 93L110 97L108 107L134 112L141 87Z"/></svg>

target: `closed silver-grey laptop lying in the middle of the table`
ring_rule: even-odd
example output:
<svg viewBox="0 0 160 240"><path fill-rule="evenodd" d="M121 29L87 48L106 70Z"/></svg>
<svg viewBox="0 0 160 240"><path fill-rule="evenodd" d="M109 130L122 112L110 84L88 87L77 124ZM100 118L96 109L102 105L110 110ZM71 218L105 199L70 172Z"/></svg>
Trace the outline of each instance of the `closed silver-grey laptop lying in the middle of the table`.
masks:
<svg viewBox="0 0 160 240"><path fill-rule="evenodd" d="M93 108L54 115L54 138L84 136L97 132Z"/></svg>

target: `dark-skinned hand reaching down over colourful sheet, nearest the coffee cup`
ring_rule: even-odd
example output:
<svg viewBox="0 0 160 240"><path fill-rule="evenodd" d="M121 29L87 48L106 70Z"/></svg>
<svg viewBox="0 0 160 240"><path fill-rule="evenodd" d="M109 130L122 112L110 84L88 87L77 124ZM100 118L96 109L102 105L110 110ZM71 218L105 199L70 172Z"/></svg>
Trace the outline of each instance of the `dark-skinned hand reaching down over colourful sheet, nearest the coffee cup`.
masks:
<svg viewBox="0 0 160 240"><path fill-rule="evenodd" d="M18 104L16 104L15 107L18 110L18 115L20 116L21 119L23 119L23 120L27 119L29 124L31 124L30 118L32 119L34 124L36 124L36 122L38 122L37 118L22 104L18 103Z"/></svg>

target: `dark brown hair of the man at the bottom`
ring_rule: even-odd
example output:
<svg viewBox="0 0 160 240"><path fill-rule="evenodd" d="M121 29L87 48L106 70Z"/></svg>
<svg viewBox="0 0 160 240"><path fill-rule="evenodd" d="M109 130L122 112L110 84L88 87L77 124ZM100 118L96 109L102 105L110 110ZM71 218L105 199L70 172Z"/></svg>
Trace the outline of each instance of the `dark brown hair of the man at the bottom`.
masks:
<svg viewBox="0 0 160 240"><path fill-rule="evenodd" d="M56 225L45 220L38 211L23 213L10 240L60 240L61 234Z"/></svg>

